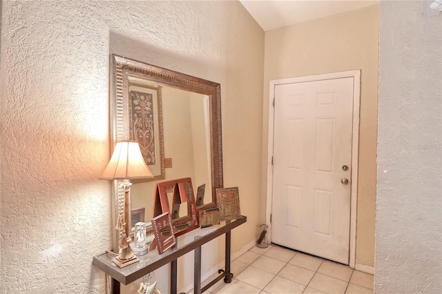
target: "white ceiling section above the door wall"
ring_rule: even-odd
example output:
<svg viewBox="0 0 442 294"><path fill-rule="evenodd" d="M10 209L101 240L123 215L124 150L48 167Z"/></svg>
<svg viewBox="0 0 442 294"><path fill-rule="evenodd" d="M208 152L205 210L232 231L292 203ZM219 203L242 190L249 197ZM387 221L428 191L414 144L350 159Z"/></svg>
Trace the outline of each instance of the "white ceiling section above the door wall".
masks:
<svg viewBox="0 0 442 294"><path fill-rule="evenodd" d="M240 0L265 31L356 10L378 0Z"/></svg>

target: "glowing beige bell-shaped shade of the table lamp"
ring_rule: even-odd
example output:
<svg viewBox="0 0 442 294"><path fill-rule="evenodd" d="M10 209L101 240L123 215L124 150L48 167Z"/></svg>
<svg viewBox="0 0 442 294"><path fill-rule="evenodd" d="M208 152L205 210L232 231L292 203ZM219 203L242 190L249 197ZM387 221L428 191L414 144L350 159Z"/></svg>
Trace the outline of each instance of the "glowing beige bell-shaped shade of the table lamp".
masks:
<svg viewBox="0 0 442 294"><path fill-rule="evenodd" d="M100 179L142 179L153 177L146 166L137 141L122 141L115 145L111 160Z"/></svg>

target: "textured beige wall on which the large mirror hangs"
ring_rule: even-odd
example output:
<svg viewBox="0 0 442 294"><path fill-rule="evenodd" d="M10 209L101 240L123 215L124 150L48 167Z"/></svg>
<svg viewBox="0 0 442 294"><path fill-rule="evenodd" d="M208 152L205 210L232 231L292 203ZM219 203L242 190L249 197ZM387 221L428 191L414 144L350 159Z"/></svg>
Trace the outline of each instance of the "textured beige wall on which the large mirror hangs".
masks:
<svg viewBox="0 0 442 294"><path fill-rule="evenodd" d="M1 293L105 292L91 262L112 244L111 183L97 179L110 53L221 84L224 184L248 217L232 251L253 242L264 32L239 2L2 1L1 26Z"/></svg>

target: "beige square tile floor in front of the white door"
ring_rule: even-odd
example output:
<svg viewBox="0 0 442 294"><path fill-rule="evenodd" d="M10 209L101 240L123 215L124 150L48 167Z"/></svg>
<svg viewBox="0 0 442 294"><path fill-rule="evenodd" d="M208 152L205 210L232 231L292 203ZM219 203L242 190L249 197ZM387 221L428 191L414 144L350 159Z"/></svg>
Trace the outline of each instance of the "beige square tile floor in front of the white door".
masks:
<svg viewBox="0 0 442 294"><path fill-rule="evenodd" d="M230 284L221 280L205 293L373 293L373 275L279 246L251 248L231 272Z"/></svg>

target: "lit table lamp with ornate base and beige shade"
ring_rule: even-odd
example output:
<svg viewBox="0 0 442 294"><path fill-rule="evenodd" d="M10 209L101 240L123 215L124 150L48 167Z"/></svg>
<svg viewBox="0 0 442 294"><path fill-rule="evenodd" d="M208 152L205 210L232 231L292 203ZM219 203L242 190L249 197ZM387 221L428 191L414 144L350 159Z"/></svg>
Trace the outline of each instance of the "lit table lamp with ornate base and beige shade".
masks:
<svg viewBox="0 0 442 294"><path fill-rule="evenodd" d="M152 178L151 170L144 162L140 145L137 141L121 141L115 145L111 160L106 166L99 179L124 179L125 182L120 183L124 187L124 212L118 216L117 229L119 230L119 255L113 259L113 262L118 266L126 266L137 262L138 259L131 251L131 218L129 208L129 195L132 183L131 179ZM127 217L126 217L127 214ZM128 219L126 223L125 219ZM126 234L127 232L127 234Z"/></svg>

